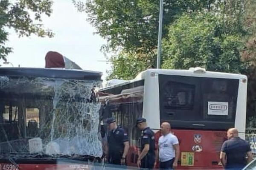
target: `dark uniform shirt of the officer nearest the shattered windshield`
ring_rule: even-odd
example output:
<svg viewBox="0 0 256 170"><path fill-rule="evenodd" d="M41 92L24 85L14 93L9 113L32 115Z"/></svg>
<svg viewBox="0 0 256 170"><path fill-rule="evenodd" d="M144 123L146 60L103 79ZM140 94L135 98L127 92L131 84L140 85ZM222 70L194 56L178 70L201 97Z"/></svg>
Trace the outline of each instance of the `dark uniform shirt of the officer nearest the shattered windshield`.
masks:
<svg viewBox="0 0 256 170"><path fill-rule="evenodd" d="M124 142L128 142L128 135L125 133L125 130L121 127L117 127L116 130L111 130L108 133L108 145L109 152L123 152Z"/></svg>

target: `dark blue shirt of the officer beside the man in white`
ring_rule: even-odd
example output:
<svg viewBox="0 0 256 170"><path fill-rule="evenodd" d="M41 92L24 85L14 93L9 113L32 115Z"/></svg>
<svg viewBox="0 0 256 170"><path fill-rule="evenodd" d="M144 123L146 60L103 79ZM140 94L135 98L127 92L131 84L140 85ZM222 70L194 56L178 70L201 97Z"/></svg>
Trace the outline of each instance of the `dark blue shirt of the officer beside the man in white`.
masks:
<svg viewBox="0 0 256 170"><path fill-rule="evenodd" d="M149 144L148 154L154 156L155 155L155 140L154 140L154 132L149 128L145 128L142 131L141 139L140 139L140 150L142 151L145 147L145 144Z"/></svg>

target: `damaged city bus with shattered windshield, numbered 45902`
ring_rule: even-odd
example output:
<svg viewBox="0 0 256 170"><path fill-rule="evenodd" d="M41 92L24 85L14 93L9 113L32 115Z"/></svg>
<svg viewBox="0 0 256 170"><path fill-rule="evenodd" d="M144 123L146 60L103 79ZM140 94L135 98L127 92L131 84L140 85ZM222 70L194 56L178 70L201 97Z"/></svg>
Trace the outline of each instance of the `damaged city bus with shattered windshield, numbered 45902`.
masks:
<svg viewBox="0 0 256 170"><path fill-rule="evenodd" d="M0 68L0 170L77 169L102 156L94 87L102 73ZM85 168L84 168L85 169Z"/></svg>

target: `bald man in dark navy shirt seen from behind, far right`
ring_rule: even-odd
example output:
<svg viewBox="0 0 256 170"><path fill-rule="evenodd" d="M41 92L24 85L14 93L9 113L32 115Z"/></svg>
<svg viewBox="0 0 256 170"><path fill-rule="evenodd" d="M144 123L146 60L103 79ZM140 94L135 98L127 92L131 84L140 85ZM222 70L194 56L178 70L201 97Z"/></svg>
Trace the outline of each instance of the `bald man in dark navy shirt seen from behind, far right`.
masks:
<svg viewBox="0 0 256 170"><path fill-rule="evenodd" d="M221 164L226 170L241 170L253 160L250 145L238 137L238 130L235 128L227 131L227 137L229 140L221 147Z"/></svg>

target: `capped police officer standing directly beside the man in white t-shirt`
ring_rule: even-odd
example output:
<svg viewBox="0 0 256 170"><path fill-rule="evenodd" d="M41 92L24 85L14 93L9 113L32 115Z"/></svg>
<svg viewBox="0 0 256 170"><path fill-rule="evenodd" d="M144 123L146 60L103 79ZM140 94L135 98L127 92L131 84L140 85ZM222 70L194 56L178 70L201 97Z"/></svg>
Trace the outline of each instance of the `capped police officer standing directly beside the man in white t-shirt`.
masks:
<svg viewBox="0 0 256 170"><path fill-rule="evenodd" d="M146 119L138 118L137 127L142 130L140 139L140 155L137 159L137 165L141 168L154 168L155 161L155 141L154 132L147 127Z"/></svg>

